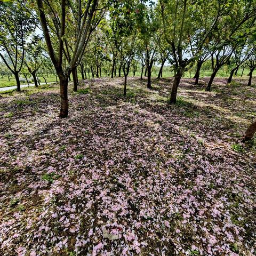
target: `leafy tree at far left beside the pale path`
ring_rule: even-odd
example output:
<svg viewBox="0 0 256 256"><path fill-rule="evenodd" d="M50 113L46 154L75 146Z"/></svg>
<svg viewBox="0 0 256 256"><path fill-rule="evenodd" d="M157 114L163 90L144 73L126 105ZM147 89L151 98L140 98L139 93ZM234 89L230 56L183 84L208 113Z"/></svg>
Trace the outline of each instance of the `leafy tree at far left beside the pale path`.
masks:
<svg viewBox="0 0 256 256"><path fill-rule="evenodd" d="M15 77L20 91L19 73L22 69L26 42L35 30L36 20L27 10L26 2L5 5L0 2L0 57Z"/></svg>

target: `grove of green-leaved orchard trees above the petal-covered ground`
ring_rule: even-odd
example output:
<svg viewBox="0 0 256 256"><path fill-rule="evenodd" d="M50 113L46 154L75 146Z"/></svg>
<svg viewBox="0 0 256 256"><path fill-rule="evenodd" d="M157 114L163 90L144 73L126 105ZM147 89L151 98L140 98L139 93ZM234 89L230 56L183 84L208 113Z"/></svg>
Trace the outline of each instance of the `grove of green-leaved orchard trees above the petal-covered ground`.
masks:
<svg viewBox="0 0 256 256"><path fill-rule="evenodd" d="M73 90L83 79L102 75L124 77L141 71L151 89L151 74L164 65L174 72L169 103L177 102L180 80L210 63L205 86L211 91L218 71L229 67L228 83L237 70L249 69L248 86L256 68L255 0L29 0L0 3L2 76L56 76L60 87L60 117L68 116L68 82ZM4 67L5 66L5 67ZM58 78L57 78L58 76ZM27 79L28 81L28 79ZM47 82L46 82L47 83ZM255 126L255 125L254 125ZM253 126L253 127L254 127Z"/></svg>

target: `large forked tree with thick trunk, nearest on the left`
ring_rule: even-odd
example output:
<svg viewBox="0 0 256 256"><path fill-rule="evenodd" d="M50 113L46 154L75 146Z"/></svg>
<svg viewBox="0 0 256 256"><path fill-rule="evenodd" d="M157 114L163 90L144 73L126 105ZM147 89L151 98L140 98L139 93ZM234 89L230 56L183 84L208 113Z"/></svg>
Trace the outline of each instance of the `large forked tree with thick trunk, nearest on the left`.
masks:
<svg viewBox="0 0 256 256"><path fill-rule="evenodd" d="M76 69L89 41L92 31L98 26L102 18L102 10L98 8L99 0L79 0L76 3L61 0L60 2L37 0L37 12L44 33L47 50L53 66L60 79L60 117L68 116L68 77ZM77 22L68 22L75 20ZM70 26L75 30L75 43ZM55 45L53 45L53 42ZM54 47L55 46L55 47ZM70 50L71 47L71 50ZM66 60L63 60L63 54Z"/></svg>

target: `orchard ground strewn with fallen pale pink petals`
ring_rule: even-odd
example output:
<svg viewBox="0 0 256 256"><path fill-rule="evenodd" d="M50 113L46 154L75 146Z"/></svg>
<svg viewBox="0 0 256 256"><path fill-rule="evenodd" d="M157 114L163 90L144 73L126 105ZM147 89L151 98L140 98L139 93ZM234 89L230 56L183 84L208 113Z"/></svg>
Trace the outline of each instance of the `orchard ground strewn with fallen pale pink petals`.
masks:
<svg viewBox="0 0 256 256"><path fill-rule="evenodd" d="M172 79L0 94L0 255L255 255L256 87Z"/></svg>

